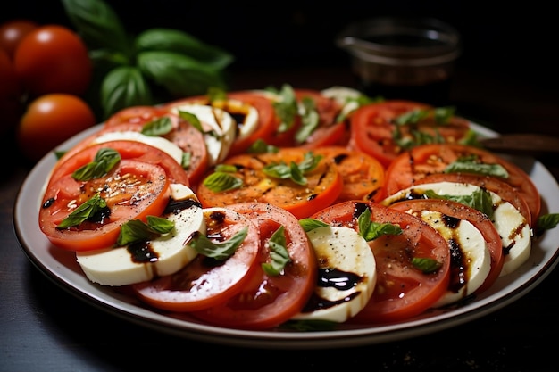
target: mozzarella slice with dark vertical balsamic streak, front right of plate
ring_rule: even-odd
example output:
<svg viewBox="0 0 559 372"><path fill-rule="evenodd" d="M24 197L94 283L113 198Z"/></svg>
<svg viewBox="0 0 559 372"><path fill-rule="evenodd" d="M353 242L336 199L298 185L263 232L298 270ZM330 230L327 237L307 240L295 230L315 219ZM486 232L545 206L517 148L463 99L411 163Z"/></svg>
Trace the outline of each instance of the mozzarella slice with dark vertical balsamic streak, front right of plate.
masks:
<svg viewBox="0 0 559 372"><path fill-rule="evenodd" d="M439 211L422 211L420 217L449 242L453 257L450 287L433 307L458 302L474 293L491 269L491 253L480 230L465 219L450 227Z"/></svg>

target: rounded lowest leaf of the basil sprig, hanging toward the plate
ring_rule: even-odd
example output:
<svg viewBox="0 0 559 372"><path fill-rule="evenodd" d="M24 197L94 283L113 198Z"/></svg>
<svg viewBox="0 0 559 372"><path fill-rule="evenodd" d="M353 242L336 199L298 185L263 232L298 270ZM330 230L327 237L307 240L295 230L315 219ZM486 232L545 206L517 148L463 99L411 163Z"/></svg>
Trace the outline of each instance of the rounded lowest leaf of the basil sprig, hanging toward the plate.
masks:
<svg viewBox="0 0 559 372"><path fill-rule="evenodd" d="M129 106L153 104L146 79L135 67L121 66L111 70L101 84L101 105L105 117Z"/></svg>

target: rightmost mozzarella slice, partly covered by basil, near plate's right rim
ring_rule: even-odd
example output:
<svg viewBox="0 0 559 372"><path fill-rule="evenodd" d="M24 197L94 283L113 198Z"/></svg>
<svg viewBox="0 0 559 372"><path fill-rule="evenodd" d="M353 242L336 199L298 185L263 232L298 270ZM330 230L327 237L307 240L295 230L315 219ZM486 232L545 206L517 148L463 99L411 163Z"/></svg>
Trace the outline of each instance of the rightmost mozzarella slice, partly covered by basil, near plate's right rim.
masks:
<svg viewBox="0 0 559 372"><path fill-rule="evenodd" d="M439 195L457 196L470 195L480 190L480 186L457 182L435 182L411 186L388 196L382 204L390 205L405 199L428 198L425 194L428 190ZM505 262L500 273L502 277L518 269L530 257L532 230L526 218L514 208L513 204L501 199L492 191L488 191L488 193L491 194L493 202L493 224L501 236L505 253Z"/></svg>

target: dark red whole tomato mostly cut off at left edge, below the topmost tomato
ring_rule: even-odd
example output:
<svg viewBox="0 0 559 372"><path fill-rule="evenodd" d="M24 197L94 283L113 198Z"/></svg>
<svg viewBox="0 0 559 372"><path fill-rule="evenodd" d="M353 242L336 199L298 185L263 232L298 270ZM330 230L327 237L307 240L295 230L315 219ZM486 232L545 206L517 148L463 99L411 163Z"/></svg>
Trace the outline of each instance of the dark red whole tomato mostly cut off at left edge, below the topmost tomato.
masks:
<svg viewBox="0 0 559 372"><path fill-rule="evenodd" d="M21 115L21 85L15 75L13 63L4 49L0 48L0 135L15 128Z"/></svg>

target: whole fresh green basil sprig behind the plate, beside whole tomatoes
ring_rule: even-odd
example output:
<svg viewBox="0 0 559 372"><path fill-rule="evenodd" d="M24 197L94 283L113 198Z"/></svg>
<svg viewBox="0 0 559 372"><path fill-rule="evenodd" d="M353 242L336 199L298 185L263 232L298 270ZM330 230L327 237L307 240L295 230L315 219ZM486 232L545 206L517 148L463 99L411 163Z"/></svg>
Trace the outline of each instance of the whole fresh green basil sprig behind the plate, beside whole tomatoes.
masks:
<svg viewBox="0 0 559 372"><path fill-rule="evenodd" d="M62 0L64 11L94 62L94 94L104 118L132 105L156 104L210 87L226 87L229 52L179 29L146 29L130 35L103 0ZM163 88L163 89L162 89ZM154 95L154 91L166 94Z"/></svg>

